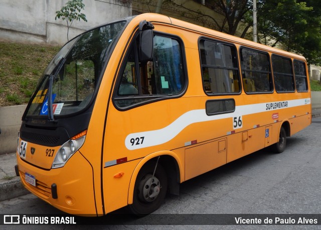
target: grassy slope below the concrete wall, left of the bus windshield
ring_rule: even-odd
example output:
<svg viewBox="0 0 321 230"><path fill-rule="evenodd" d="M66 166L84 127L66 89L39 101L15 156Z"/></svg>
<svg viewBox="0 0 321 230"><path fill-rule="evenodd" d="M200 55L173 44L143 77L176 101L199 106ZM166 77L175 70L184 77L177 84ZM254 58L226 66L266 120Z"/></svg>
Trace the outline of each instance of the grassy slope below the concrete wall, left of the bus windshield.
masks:
<svg viewBox="0 0 321 230"><path fill-rule="evenodd" d="M0 107L28 102L60 47L0 42Z"/></svg>

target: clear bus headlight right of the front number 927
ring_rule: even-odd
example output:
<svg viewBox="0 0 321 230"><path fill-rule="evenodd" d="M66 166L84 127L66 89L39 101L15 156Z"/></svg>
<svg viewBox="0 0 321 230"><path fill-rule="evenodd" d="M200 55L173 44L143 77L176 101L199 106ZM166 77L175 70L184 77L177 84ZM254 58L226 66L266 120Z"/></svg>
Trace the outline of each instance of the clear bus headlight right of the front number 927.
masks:
<svg viewBox="0 0 321 230"><path fill-rule="evenodd" d="M71 158L72 155L84 144L85 137L86 136L82 136L76 140L73 139L65 142L58 150L51 168L55 169L63 167L69 158Z"/></svg>

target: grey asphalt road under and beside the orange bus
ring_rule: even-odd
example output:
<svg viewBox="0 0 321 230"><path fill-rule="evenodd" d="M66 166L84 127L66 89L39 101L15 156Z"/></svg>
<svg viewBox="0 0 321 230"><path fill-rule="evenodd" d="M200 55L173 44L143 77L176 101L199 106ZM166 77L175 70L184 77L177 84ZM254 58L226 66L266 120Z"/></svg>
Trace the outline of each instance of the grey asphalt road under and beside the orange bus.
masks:
<svg viewBox="0 0 321 230"><path fill-rule="evenodd" d="M168 195L155 214L140 219L123 216L120 225L95 226L108 229L320 229L321 225L174 225L171 218L194 218L195 224L207 215L197 214L321 214L321 117L308 128L287 139L281 154L261 150L181 184L180 196ZM58 209L29 194L0 202L0 214L61 214ZM127 213L123 208L116 213ZM162 215L165 214L165 215ZM167 215L174 214L174 215ZM196 215L175 215L196 214ZM172 216L172 217L171 217ZM209 216L211 217L211 216ZM212 216L213 217L213 216ZM215 217L215 216L214 216ZM159 225L147 225L158 218ZM90 218L108 224L111 218ZM155 220L155 219L153 219ZM173 220L173 219L172 219ZM318 220L319 222L321 219ZM173 222L172 222L173 223ZM175 223L175 221L174 221ZM192 222L193 223L193 222ZM162 225L169 224L169 225ZM78 229L73 225L50 225L54 229ZM88 228L89 226L83 226ZM3 225L2 229L43 229L44 226Z"/></svg>

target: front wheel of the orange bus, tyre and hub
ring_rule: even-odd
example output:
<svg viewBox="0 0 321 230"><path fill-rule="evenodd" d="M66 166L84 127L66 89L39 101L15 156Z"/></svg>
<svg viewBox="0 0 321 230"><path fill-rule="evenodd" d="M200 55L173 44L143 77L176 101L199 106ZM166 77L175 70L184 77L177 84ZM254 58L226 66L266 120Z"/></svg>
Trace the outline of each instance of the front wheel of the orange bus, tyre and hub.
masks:
<svg viewBox="0 0 321 230"><path fill-rule="evenodd" d="M153 172L156 166L155 174ZM132 213L144 216L161 206L167 191L167 175L161 164L146 163L139 171L133 194L133 203L129 205Z"/></svg>

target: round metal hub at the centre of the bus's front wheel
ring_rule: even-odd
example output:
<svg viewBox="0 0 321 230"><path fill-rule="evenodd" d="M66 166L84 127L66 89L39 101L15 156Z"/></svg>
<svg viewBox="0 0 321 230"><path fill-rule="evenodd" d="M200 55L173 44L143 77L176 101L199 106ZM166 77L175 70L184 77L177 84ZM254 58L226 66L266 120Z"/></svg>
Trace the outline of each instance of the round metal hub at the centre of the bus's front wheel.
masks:
<svg viewBox="0 0 321 230"><path fill-rule="evenodd" d="M152 202L161 191L161 183L155 176L152 178L151 174L147 174L140 181L139 188L139 199L144 202Z"/></svg>

